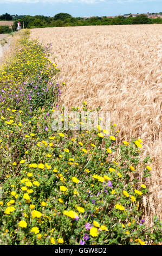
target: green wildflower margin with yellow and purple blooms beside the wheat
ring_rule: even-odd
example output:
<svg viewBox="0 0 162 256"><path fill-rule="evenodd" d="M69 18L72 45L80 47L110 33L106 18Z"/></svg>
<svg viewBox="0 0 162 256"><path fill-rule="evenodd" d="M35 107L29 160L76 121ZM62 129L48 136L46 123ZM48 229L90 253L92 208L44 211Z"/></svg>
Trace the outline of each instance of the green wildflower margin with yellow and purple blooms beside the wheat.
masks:
<svg viewBox="0 0 162 256"><path fill-rule="evenodd" d="M152 174L142 139L117 145L113 123L53 130L63 84L49 48L24 30L0 72L1 245L159 244L159 216L148 228L141 204Z"/></svg>

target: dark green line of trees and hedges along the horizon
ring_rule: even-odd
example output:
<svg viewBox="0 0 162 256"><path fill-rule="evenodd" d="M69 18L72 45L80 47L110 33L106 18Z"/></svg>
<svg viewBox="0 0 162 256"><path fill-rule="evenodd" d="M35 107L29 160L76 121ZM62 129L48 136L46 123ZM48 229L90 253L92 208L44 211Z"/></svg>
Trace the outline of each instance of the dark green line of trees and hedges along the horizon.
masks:
<svg viewBox="0 0 162 256"><path fill-rule="evenodd" d="M9 14L5 14L5 17L9 17ZM0 17L2 20L4 15ZM70 27L70 26L95 26L95 25L133 25L133 24L162 24L162 19L157 17L156 19L151 19L145 14L139 14L136 17L117 16L111 17L90 17L83 19L82 17L72 17L72 15L67 13L56 14L54 17L43 16L43 15L22 15L15 16L13 18L14 25L12 26L12 31L16 31L17 22L20 21L24 28L45 28L45 27Z"/></svg>

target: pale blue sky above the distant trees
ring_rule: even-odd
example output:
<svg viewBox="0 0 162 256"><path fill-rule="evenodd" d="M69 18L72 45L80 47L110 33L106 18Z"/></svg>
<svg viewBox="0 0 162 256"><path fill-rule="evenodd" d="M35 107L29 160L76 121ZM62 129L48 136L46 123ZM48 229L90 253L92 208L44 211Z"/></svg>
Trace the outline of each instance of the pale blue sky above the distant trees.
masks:
<svg viewBox="0 0 162 256"><path fill-rule="evenodd" d="M54 16L69 13L83 17L159 11L162 11L162 0L0 0L0 14Z"/></svg>

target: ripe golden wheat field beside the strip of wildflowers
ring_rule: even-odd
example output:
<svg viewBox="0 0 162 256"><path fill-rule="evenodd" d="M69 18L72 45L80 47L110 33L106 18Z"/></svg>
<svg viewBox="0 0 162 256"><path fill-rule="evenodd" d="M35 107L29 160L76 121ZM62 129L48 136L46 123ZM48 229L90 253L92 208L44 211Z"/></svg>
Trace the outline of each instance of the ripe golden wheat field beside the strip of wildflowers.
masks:
<svg viewBox="0 0 162 256"><path fill-rule="evenodd" d="M151 225L161 219L162 25L87 26L31 29L31 39L52 43L50 59L60 68L60 105L101 107L120 130L116 143L141 138L153 158L151 193L142 198Z"/></svg>

